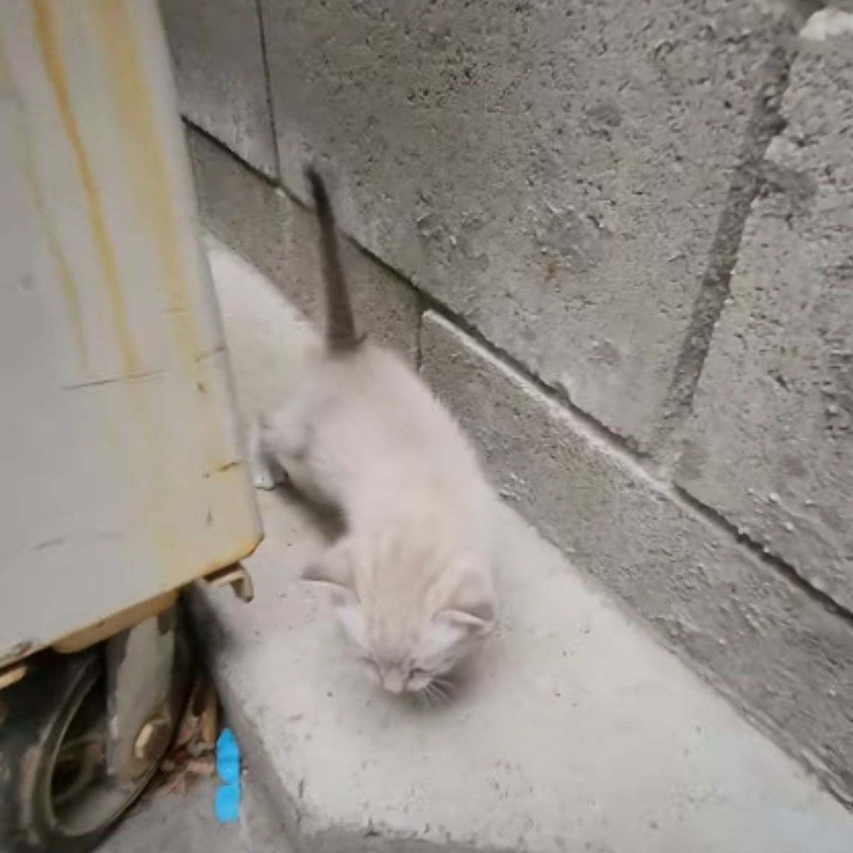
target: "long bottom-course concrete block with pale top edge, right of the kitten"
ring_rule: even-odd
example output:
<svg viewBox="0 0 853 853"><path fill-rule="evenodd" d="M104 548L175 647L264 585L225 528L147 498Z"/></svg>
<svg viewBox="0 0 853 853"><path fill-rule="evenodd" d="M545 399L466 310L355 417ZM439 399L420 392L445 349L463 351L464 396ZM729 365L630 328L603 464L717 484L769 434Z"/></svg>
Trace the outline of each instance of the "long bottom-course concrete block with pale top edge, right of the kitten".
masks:
<svg viewBox="0 0 853 853"><path fill-rule="evenodd" d="M508 501L853 800L850 624L450 323L421 341Z"/></svg>

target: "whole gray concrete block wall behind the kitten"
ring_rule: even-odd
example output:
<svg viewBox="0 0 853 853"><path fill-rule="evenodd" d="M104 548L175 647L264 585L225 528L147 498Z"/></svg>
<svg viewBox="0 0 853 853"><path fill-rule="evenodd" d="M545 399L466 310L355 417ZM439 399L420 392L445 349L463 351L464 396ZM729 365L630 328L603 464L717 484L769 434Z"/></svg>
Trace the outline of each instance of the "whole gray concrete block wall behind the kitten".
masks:
<svg viewBox="0 0 853 853"><path fill-rule="evenodd" d="M853 802L853 16L162 6L206 226L315 316L320 165L508 502Z"/></svg>

